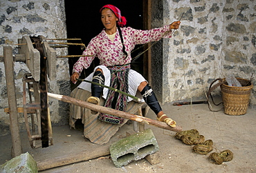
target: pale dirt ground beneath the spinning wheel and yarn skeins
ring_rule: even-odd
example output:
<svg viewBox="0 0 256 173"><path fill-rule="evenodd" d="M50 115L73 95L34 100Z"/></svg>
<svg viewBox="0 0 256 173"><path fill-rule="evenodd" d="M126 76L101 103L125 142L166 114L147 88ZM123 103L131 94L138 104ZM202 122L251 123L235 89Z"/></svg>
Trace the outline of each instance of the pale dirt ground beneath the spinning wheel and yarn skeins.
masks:
<svg viewBox="0 0 256 173"><path fill-rule="evenodd" d="M163 105L163 110L176 120L183 130L196 129L205 136L205 140L212 139L212 152L231 150L234 154L232 161L215 165L207 155L196 154L193 145L185 145L174 139L175 132L146 125L151 128L158 141L161 163L151 165L147 160L133 161L123 167L115 167L110 156L91 159L80 163L73 163L62 167L55 167L41 172L256 172L256 113L248 109L241 116L230 116L220 112L211 112L208 105ZM149 110L149 118L155 119L154 112ZM126 136L126 132L133 129L133 125L124 125L111 138L107 145ZM11 136L0 137L0 165L11 159ZM35 161L75 154L84 150L101 147L84 139L80 128L70 129L68 125L53 127L53 144L46 148L32 149L28 143L26 132L21 133L23 152L29 152ZM210 153L212 153L210 152Z"/></svg>

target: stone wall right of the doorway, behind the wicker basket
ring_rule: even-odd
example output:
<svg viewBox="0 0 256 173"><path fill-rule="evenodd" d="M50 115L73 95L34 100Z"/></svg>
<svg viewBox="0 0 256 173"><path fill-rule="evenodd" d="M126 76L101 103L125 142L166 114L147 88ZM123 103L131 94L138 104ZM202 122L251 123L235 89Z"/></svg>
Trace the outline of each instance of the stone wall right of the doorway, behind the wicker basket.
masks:
<svg viewBox="0 0 256 173"><path fill-rule="evenodd" d="M164 63L158 64L158 68L165 74L163 85L154 85L158 82L152 77L157 93L165 93L160 96L163 103L205 99L205 92L214 79L228 74L250 79L255 74L254 1L163 0L158 3L163 12L160 16L152 15L152 27L179 20L184 12L180 29L174 32L172 39L163 39L161 43ZM157 14L158 9L153 6L152 14ZM152 49L152 52L159 52L159 48ZM253 84L256 85L255 79ZM251 95L253 107L255 91L256 87ZM220 94L219 89L214 94Z"/></svg>

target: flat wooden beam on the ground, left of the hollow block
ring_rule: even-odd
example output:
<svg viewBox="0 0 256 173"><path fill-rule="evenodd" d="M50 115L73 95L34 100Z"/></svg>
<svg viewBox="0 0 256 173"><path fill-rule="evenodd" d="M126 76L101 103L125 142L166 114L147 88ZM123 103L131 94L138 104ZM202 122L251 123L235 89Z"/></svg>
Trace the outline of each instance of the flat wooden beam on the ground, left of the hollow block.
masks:
<svg viewBox="0 0 256 173"><path fill-rule="evenodd" d="M51 159L46 159L44 161L37 162L38 171L51 169L53 167L59 167L63 165L68 165L71 163L77 163L80 161L88 161L89 159L95 159L100 156L109 155L109 145L103 147L96 147L93 150L77 152L75 154L69 154L66 156L55 157Z"/></svg>

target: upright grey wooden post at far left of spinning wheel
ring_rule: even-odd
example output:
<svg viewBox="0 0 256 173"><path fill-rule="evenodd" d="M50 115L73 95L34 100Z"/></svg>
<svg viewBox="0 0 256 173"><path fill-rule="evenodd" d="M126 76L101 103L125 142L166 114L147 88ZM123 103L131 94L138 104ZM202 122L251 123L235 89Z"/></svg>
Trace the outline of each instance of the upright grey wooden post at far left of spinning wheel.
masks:
<svg viewBox="0 0 256 173"><path fill-rule="evenodd" d="M15 94L15 74L13 70L12 47L3 47L4 66L6 70L6 87L10 116L10 132L12 134L12 157L19 156L21 150L21 138L19 136L19 120L17 100Z"/></svg>

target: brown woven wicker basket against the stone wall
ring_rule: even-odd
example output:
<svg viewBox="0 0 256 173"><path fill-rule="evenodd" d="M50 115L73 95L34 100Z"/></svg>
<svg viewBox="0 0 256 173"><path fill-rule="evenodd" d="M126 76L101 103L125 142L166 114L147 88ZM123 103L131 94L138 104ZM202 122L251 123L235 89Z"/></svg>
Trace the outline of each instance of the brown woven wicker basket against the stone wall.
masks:
<svg viewBox="0 0 256 173"><path fill-rule="evenodd" d="M226 79L222 80L224 82L221 85L224 113L229 115L246 114L253 84L247 79L237 78L241 87L233 87L228 85Z"/></svg>

